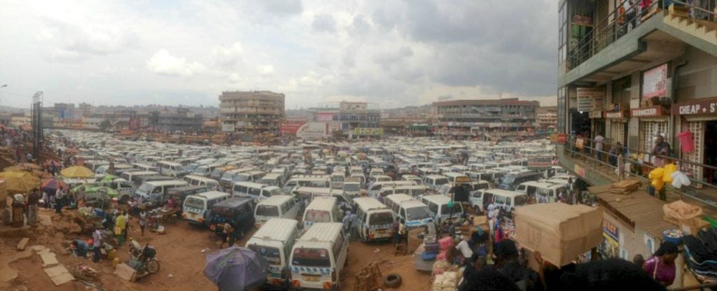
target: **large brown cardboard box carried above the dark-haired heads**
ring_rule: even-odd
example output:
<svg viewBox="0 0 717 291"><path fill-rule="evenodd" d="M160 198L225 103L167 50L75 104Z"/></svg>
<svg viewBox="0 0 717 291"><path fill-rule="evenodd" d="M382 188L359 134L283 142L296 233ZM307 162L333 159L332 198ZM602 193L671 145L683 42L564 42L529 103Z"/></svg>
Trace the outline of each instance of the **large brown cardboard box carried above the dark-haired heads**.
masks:
<svg viewBox="0 0 717 291"><path fill-rule="evenodd" d="M564 266L602 242L602 210L562 203L516 209L516 241L543 259Z"/></svg>

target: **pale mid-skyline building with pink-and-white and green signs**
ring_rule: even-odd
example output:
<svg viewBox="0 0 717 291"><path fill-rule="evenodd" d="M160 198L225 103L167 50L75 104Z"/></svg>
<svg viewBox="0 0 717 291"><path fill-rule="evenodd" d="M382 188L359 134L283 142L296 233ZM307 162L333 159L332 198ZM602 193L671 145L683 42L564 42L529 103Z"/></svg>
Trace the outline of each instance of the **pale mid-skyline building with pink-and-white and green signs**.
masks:
<svg viewBox="0 0 717 291"><path fill-rule="evenodd" d="M315 108L308 109L308 120L310 123L328 123L329 128L338 128L343 135L382 134L382 130L378 130L381 128L381 110L376 103L324 102ZM376 129L364 130L363 128Z"/></svg>

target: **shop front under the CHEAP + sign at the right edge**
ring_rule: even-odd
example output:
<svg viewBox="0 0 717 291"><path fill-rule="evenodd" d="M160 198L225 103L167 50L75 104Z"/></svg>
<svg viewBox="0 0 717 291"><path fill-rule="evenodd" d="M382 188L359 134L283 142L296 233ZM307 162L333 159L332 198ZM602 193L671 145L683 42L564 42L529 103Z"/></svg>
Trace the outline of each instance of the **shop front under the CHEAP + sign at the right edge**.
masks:
<svg viewBox="0 0 717 291"><path fill-rule="evenodd" d="M673 105L673 115L680 117L680 147L675 146L675 153L680 150L681 157L694 163L717 166L717 151L708 148L717 147L717 97L691 100ZM691 138L690 138L691 135ZM688 143L692 143L689 145ZM687 151L687 150L690 151ZM698 181L717 185L717 171L695 165L683 165L683 169ZM700 184L693 184L701 186Z"/></svg>

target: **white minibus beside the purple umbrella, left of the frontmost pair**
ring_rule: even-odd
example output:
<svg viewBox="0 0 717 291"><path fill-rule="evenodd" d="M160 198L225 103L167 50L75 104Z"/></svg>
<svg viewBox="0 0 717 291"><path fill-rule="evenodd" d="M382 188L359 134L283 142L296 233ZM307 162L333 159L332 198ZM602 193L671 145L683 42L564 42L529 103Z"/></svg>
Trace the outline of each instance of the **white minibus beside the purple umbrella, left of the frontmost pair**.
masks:
<svg viewBox="0 0 717 291"><path fill-rule="evenodd" d="M246 247L260 254L269 263L267 285L288 288L289 256L298 237L299 222L294 219L272 218L247 241Z"/></svg>

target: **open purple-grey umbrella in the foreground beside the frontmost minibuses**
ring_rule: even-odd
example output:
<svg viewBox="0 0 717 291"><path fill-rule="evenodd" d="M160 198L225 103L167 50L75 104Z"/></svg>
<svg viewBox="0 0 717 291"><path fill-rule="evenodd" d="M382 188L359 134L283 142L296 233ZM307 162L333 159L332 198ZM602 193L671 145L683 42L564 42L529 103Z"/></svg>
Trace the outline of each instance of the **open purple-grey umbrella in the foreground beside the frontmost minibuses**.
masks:
<svg viewBox="0 0 717 291"><path fill-rule="evenodd" d="M269 263L245 247L228 247L206 255L204 277L222 291L242 291L262 285Z"/></svg>

